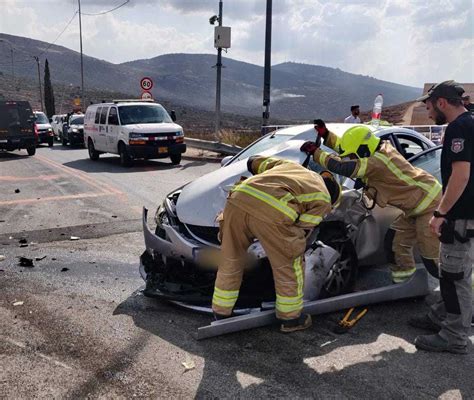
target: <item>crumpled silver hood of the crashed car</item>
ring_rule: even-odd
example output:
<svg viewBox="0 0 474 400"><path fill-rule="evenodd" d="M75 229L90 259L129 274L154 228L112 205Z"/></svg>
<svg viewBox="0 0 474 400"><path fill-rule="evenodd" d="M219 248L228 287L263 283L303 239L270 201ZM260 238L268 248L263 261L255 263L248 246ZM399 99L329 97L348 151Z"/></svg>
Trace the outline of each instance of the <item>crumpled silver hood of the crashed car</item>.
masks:
<svg viewBox="0 0 474 400"><path fill-rule="evenodd" d="M278 156L302 164L306 155L299 151L305 138L294 138L273 147L262 156ZM249 177L247 159L231 163L186 185L178 198L176 212L181 222L217 226L216 215L224 210L227 194L241 176Z"/></svg>

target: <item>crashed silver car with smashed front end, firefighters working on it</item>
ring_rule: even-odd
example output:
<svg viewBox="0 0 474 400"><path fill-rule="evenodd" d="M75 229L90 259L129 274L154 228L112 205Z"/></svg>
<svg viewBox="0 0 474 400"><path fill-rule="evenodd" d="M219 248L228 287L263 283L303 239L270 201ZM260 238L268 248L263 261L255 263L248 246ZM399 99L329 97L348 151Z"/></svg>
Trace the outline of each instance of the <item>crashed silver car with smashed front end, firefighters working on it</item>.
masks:
<svg viewBox="0 0 474 400"><path fill-rule="evenodd" d="M328 124L339 136L352 124ZM382 140L389 140L414 165L426 169L439 179L440 148L411 130L393 127L371 127ZM218 251L216 215L224 209L229 190L241 176L249 176L248 157L256 154L289 159L302 164L306 155L300 146L314 140L312 125L294 126L267 134L236 156L229 156L222 167L171 192L158 207L153 228L143 212L146 250L140 258L140 273L157 297L176 301L191 308L210 311L216 265L209 265L209 253ZM323 148L326 151L333 150ZM312 160L308 168L320 172ZM394 207L383 209L368 204L357 189L357 183L338 177L343 184L342 200L315 229L309 246L322 242L334 250L335 257L320 295L336 296L352 290L359 265L381 265L386 262L383 250L390 223L400 213ZM269 262L264 250L255 242L250 248L248 268L237 308L260 307L274 301L275 293ZM207 256L206 256L207 255ZM305 299L312 296L314 271L306 266ZM313 274L313 275L312 275ZM204 307L204 308L202 308Z"/></svg>

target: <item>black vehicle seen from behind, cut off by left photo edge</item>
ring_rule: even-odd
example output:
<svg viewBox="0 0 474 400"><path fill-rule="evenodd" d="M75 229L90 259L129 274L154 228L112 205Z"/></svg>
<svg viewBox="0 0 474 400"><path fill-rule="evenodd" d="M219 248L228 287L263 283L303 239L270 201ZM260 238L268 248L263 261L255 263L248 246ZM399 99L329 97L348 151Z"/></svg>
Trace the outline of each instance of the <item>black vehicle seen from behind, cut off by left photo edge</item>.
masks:
<svg viewBox="0 0 474 400"><path fill-rule="evenodd" d="M0 100L0 150L36 153L35 116L27 101Z"/></svg>

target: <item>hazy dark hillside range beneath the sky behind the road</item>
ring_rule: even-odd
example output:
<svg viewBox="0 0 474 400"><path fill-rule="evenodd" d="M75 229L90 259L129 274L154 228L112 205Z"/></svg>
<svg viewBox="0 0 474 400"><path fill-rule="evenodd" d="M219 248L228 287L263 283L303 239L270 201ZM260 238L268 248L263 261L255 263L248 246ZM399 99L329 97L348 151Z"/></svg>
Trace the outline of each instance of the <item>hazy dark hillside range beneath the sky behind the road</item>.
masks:
<svg viewBox="0 0 474 400"><path fill-rule="evenodd" d="M80 84L79 53L18 36L0 34L0 39L12 43L15 49L15 76L21 87L34 86L35 80L37 82L33 54L40 54L42 65L48 58L55 86L63 85L70 92L71 87ZM87 43L85 49L87 51ZM8 76L11 74L9 46L0 46L0 57L0 71ZM215 104L215 69L212 66L215 61L216 56L212 54L167 54L113 64L85 56L85 87L136 97L140 93L140 78L150 76L155 82L154 97L159 101L212 111ZM229 58L224 58L223 63L222 111L259 120L263 68ZM5 88L0 87L0 90ZM322 66L297 63L275 65L272 67L272 122L273 119L308 120L316 116L342 118L348 114L353 103L360 104L362 109L370 109L373 99L380 92L389 106L412 100L421 89Z"/></svg>

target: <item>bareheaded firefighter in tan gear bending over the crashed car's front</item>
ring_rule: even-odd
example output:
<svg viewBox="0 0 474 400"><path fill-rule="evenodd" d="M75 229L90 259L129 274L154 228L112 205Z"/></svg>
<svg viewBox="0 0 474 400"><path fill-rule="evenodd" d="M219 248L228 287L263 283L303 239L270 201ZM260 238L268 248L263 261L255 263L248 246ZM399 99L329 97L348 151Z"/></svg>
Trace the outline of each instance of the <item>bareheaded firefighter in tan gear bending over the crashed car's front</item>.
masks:
<svg viewBox="0 0 474 400"><path fill-rule="evenodd" d="M254 176L233 187L219 221L214 315L220 319L232 314L247 249L257 239L271 264L281 331L306 329L311 326L311 316L301 314L306 237L331 211L341 188L330 172L319 175L292 161L252 156L247 168Z"/></svg>

